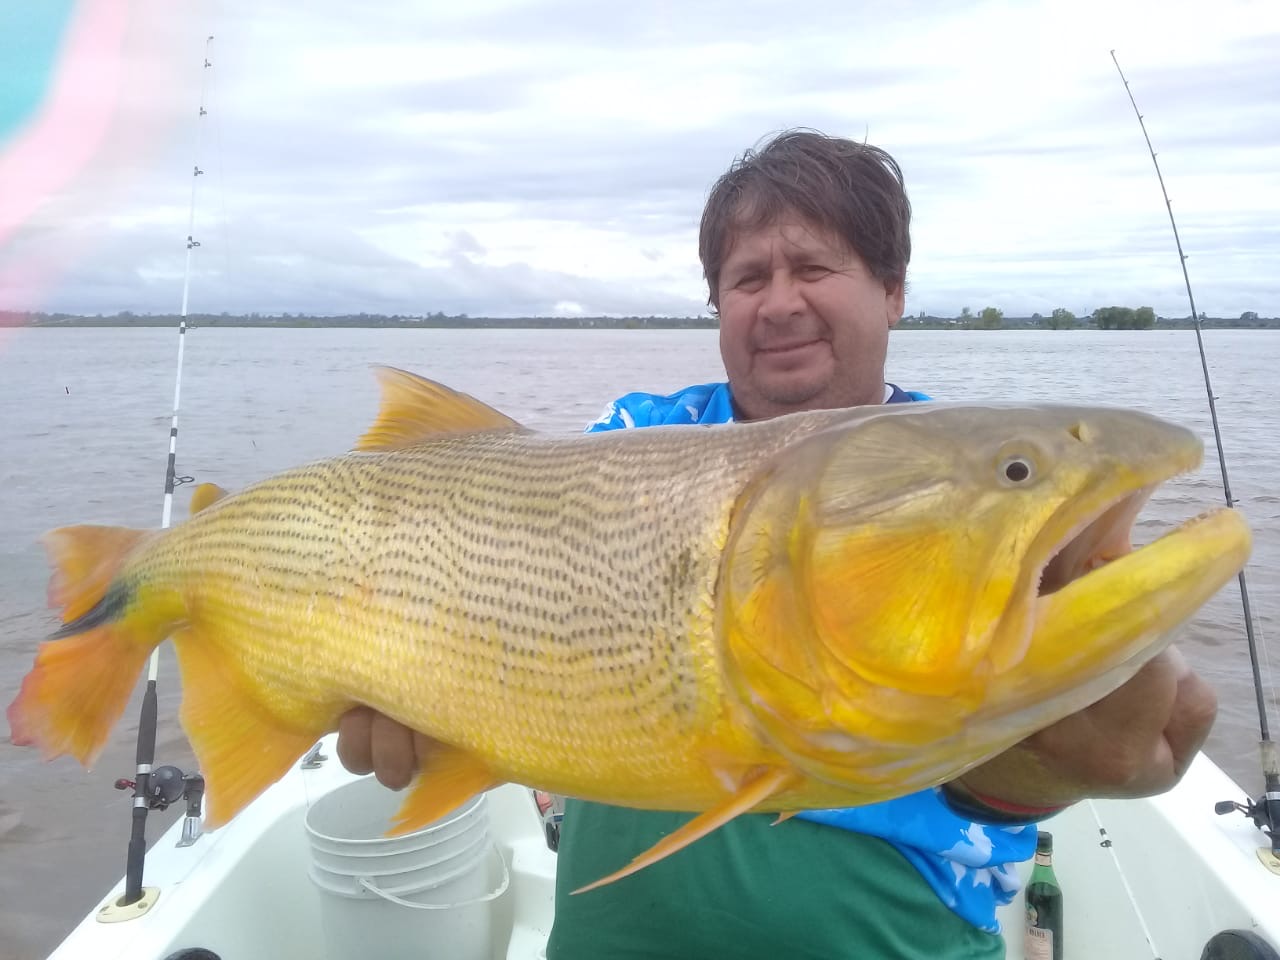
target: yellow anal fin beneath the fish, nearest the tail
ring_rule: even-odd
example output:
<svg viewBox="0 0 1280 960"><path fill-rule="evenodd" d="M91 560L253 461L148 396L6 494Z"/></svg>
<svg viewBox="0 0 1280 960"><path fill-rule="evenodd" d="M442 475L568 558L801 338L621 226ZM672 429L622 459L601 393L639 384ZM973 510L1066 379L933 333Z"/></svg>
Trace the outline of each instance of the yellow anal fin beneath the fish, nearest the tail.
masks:
<svg viewBox="0 0 1280 960"><path fill-rule="evenodd" d="M298 730L253 699L215 639L192 627L173 637L182 673L182 728L207 783L205 822L227 823L283 777L333 726L317 708L316 723Z"/></svg>

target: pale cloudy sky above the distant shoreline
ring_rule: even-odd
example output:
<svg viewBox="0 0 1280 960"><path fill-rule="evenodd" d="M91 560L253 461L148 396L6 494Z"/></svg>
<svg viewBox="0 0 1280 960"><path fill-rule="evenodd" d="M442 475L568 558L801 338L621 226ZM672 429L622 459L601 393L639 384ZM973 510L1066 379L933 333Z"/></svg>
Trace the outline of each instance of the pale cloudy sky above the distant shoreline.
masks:
<svg viewBox="0 0 1280 960"><path fill-rule="evenodd" d="M901 164L909 315L1185 316L1115 50L1197 307L1280 316L1275 0L5 6L0 310L705 314L708 188L808 127Z"/></svg>

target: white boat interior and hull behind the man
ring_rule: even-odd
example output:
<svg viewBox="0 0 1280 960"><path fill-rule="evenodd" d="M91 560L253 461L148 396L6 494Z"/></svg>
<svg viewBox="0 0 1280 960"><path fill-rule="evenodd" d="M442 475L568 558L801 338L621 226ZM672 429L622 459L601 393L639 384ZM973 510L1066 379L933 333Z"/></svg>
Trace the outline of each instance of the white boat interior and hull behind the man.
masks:
<svg viewBox="0 0 1280 960"><path fill-rule="evenodd" d="M483 892L470 908L416 909L372 893L343 899L314 878L307 814L360 778L332 759L332 739L320 751L330 759L296 764L229 824L195 844L178 845L184 822L175 823L147 855L148 908L118 908L122 879L51 960L163 960L192 948L221 960L388 957L394 948L388 941L402 923L421 931L401 937L415 957L545 956L556 854L531 791L507 785L486 795L489 856L479 872ZM1265 863L1267 837L1248 818L1215 813L1225 800L1245 801L1247 794L1202 754L1167 794L1083 803L1047 820L1064 890L1066 956L1201 960L1210 938L1224 931L1280 946L1280 863ZM1021 897L1001 911L1001 922L1010 960L1021 960ZM486 925L484 936L476 936L476 923ZM343 943L358 948L339 952ZM1222 952L1215 960L1265 956Z"/></svg>

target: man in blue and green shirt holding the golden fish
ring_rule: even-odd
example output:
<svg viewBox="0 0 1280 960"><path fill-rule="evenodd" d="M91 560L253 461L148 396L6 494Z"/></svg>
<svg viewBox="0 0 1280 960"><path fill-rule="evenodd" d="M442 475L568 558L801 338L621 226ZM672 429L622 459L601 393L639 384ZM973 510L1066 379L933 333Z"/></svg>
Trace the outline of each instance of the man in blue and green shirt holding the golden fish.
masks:
<svg viewBox="0 0 1280 960"><path fill-rule="evenodd" d="M628 394L590 430L756 420L927 399L884 381L901 319L910 204L881 150L812 132L749 151L712 189L699 255L727 381ZM928 576L928 571L922 571ZM995 911L1028 824L1087 796L1172 786L1216 704L1178 657L940 790L773 827L745 815L677 856L581 896L689 819L571 800L549 960L585 957L1000 957ZM367 710L339 755L404 786L430 742Z"/></svg>

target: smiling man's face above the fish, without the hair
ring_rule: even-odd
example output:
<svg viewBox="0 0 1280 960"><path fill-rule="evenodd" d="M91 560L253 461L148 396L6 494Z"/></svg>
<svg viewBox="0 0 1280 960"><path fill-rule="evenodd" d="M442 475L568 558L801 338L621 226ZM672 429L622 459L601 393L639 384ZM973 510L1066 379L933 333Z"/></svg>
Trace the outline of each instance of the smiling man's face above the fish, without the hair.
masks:
<svg viewBox="0 0 1280 960"><path fill-rule="evenodd" d="M902 288L799 218L731 241L719 275L721 357L742 420L881 403Z"/></svg>

